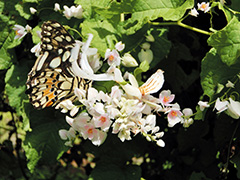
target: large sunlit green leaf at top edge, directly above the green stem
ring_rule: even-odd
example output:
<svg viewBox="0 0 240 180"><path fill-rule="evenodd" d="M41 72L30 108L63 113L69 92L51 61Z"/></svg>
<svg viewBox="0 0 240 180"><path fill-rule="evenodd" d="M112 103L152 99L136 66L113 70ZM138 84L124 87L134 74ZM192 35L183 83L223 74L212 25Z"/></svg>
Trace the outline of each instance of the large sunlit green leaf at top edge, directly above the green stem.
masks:
<svg viewBox="0 0 240 180"><path fill-rule="evenodd" d="M131 15L127 21L123 23L123 29L127 34L133 34L140 29L148 21L163 18L166 21L177 21L183 17L187 9L194 6L194 0L138 0L124 1L122 9L127 15ZM130 12L126 12L125 8Z"/></svg>

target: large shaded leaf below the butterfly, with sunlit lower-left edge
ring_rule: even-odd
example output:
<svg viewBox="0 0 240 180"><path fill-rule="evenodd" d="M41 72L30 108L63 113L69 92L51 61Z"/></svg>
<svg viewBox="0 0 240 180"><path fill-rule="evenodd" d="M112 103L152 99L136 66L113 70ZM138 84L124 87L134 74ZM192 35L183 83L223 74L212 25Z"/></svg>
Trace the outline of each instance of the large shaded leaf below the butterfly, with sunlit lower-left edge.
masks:
<svg viewBox="0 0 240 180"><path fill-rule="evenodd" d="M68 126L64 115L56 113L53 108L37 111L28 107L26 111L32 131L27 133L23 148L28 159L28 168L33 172L38 163L54 163L68 149L58 134L60 129Z"/></svg>

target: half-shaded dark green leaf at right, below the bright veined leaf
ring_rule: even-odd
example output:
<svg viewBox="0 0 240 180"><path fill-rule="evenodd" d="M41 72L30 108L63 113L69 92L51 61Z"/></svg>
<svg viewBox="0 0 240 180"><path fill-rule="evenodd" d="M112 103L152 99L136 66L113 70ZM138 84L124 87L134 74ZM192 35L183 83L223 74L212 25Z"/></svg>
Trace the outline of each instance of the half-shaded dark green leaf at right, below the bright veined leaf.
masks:
<svg viewBox="0 0 240 180"><path fill-rule="evenodd" d="M240 71L240 66L227 66L222 62L217 54L217 50L212 48L202 61L201 85L204 95L212 99L217 91L218 84L226 84L232 80Z"/></svg>

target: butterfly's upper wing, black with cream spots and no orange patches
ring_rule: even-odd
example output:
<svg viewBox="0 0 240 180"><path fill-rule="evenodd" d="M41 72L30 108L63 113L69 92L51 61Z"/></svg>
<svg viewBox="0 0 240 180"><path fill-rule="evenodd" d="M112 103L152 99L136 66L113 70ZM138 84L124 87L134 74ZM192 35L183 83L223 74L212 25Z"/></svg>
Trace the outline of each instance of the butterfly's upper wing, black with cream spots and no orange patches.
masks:
<svg viewBox="0 0 240 180"><path fill-rule="evenodd" d="M68 70L67 76L72 76L71 63L68 61L75 40L56 21L47 21L42 25L41 52L29 76L38 76L45 68Z"/></svg>

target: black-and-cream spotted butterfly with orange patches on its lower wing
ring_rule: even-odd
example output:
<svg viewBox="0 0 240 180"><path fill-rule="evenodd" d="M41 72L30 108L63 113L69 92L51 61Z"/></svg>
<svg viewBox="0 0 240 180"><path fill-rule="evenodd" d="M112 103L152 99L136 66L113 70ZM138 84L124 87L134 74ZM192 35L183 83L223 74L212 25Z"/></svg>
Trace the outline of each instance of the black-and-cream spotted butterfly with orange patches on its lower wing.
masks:
<svg viewBox="0 0 240 180"><path fill-rule="evenodd" d="M67 30L57 21L44 22L41 30L41 52L26 82L26 94L37 109L74 101L75 88L87 91L92 84L73 73L70 57L75 40Z"/></svg>

